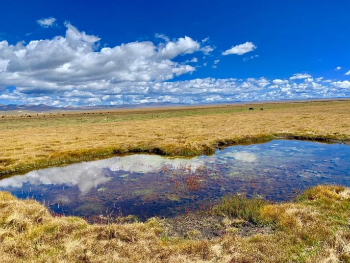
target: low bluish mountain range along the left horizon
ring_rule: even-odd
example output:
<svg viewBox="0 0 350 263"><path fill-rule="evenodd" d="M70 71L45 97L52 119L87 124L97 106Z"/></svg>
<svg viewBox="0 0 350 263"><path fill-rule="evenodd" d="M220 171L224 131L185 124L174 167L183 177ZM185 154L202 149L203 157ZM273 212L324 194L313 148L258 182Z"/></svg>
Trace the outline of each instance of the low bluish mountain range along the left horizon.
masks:
<svg viewBox="0 0 350 263"><path fill-rule="evenodd" d="M17 105L17 104L0 104L0 111L8 110L32 110L32 111L50 111L50 110L94 110L94 109L113 109L113 108L152 108L152 107L174 107L174 106L184 106L187 104L177 104L171 102L150 102L141 104L125 104L125 105L96 105L96 106L65 106L65 107L54 107L45 104L39 105Z"/></svg>

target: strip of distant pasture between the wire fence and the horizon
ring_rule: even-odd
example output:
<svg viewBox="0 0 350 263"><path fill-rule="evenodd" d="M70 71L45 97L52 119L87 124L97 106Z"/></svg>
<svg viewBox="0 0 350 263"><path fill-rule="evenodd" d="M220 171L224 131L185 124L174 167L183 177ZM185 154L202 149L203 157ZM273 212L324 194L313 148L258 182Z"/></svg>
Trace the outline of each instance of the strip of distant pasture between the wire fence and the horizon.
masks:
<svg viewBox="0 0 350 263"><path fill-rule="evenodd" d="M326 106L349 104L350 101L323 101L303 103L275 103L275 104L250 104L250 105L223 105L217 107L194 107L173 109L144 109L144 110L115 110L85 111L85 112L45 112L45 113L20 113L0 115L0 130L78 126L88 124L117 123L125 121L143 121L160 118L178 118L212 114L230 114L234 112L254 110L278 110L285 108L304 106ZM253 108L251 110L250 108Z"/></svg>

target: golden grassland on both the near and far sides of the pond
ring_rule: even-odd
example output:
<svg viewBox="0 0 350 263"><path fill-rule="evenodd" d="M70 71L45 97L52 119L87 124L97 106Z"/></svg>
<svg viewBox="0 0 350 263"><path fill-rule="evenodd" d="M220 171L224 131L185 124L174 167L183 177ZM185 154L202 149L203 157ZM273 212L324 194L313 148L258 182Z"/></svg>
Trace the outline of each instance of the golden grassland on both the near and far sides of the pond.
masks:
<svg viewBox="0 0 350 263"><path fill-rule="evenodd" d="M275 137L348 143L349 116L349 101L6 114L0 173L132 152L210 154ZM280 204L227 196L201 213L194 224L182 215L178 226L160 218L89 224L0 192L0 262L350 262L347 187L320 185ZM219 237L203 235L197 223Z"/></svg>

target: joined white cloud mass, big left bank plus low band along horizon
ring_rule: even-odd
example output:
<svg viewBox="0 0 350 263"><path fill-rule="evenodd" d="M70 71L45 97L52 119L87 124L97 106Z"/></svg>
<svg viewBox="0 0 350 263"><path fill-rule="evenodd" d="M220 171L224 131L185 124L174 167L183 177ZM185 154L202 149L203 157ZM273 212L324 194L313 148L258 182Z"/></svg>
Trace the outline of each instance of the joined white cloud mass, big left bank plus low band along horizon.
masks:
<svg viewBox="0 0 350 263"><path fill-rule="evenodd" d="M136 41L100 48L98 36L79 31L69 23L65 26L65 35L52 39L16 45L0 41L1 100L65 106L350 96L349 80L313 79L304 73L288 80L265 77L176 80L176 76L188 73L191 76L196 70L194 64L189 65L199 62L196 52L214 48L202 47L189 36L169 39L160 34L159 44ZM207 63L202 61L200 66ZM219 59L215 59L213 66L218 63Z"/></svg>

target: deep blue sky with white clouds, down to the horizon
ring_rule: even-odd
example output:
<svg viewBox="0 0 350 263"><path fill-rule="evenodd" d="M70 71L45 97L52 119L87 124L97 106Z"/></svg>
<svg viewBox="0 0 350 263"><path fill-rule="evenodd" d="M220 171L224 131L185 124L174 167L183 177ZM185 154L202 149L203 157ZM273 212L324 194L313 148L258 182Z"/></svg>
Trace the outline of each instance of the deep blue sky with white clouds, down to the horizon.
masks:
<svg viewBox="0 0 350 263"><path fill-rule="evenodd" d="M6 1L0 103L350 96L349 1Z"/></svg>

